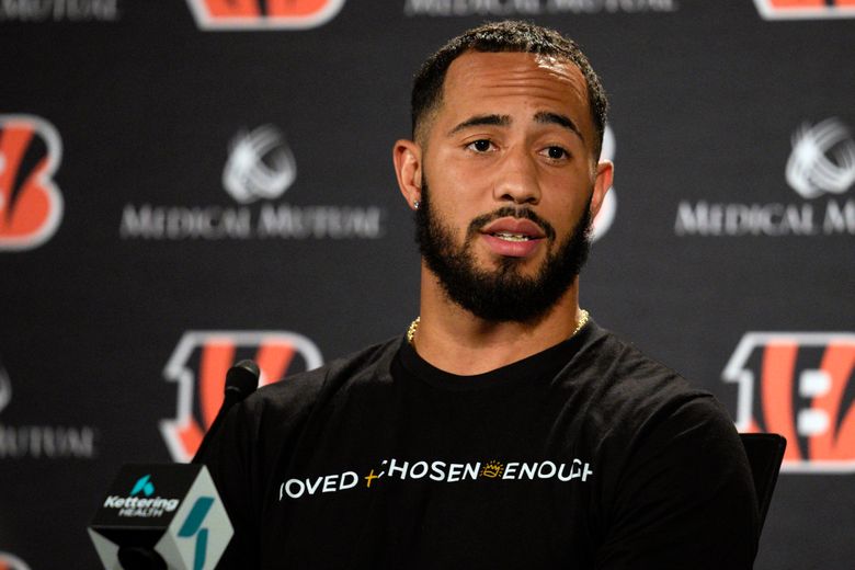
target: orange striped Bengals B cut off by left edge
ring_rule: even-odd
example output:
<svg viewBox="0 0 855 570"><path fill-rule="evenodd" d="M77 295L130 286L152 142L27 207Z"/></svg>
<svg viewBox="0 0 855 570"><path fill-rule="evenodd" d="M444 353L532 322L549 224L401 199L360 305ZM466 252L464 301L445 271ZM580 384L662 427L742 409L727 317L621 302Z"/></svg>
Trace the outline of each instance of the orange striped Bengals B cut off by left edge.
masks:
<svg viewBox="0 0 855 570"><path fill-rule="evenodd" d="M31 115L0 115L0 250L41 246L62 217L53 175L62 158L56 128Z"/></svg>

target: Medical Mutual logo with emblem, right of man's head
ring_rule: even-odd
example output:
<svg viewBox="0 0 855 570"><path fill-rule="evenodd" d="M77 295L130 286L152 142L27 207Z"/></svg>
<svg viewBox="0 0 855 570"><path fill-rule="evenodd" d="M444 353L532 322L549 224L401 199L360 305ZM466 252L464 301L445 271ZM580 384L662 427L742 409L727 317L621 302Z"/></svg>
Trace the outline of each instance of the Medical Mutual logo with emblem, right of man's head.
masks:
<svg viewBox="0 0 855 570"><path fill-rule="evenodd" d="M784 179L799 202L682 201L677 236L855 236L855 139L837 117L803 122L793 133ZM824 197L824 200L822 200Z"/></svg>

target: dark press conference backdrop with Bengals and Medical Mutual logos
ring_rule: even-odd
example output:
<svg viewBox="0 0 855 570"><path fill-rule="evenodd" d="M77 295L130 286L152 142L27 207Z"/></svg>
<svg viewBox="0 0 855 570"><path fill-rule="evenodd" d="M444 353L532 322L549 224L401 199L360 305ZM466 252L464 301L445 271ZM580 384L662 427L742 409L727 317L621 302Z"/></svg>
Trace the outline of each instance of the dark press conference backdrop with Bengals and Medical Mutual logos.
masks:
<svg viewBox="0 0 855 570"><path fill-rule="evenodd" d="M852 0L0 1L0 567L94 568L118 466L192 456L232 362L403 333L411 77L506 16L611 94L582 305L788 438L757 568L855 567Z"/></svg>

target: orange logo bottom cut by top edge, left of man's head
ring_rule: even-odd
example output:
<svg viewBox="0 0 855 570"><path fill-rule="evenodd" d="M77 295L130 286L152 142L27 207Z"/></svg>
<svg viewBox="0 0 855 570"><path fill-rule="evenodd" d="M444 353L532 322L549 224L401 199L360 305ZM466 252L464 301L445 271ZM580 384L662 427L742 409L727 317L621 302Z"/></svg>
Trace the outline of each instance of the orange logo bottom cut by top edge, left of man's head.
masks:
<svg viewBox="0 0 855 570"><path fill-rule="evenodd" d="M203 30L305 30L332 20L344 0L187 0Z"/></svg>

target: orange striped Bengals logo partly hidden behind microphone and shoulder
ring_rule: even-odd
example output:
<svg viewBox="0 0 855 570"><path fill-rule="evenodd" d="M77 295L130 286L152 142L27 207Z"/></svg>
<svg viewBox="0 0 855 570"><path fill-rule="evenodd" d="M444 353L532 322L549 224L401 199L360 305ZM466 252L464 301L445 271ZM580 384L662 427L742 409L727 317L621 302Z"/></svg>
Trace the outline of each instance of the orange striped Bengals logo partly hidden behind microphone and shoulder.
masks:
<svg viewBox="0 0 855 570"><path fill-rule="evenodd" d="M196 454L223 404L226 372L243 358L259 365L259 386L323 363L315 343L294 332L185 332L163 369L167 380L179 385L175 419L160 422L175 461L190 461Z"/></svg>

